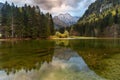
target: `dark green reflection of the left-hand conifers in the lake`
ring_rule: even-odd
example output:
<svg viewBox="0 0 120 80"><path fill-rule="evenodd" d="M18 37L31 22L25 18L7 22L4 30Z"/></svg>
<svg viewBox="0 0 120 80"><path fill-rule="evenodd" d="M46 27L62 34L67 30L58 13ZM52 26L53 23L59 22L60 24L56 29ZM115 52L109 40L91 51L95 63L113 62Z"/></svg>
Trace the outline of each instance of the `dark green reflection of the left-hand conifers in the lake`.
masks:
<svg viewBox="0 0 120 80"><path fill-rule="evenodd" d="M0 53L1 70L7 74L16 73L22 69L28 72L40 69L44 62L52 61L54 42L3 42L0 46Z"/></svg>

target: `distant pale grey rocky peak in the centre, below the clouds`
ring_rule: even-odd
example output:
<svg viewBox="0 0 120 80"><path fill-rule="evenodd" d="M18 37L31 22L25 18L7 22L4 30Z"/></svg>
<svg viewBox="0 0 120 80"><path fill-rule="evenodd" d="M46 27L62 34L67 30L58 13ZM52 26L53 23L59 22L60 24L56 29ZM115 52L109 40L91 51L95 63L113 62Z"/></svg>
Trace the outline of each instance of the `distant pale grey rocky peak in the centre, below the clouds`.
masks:
<svg viewBox="0 0 120 80"><path fill-rule="evenodd" d="M67 27L77 23L79 17L73 17L69 13L59 14L53 18L56 28Z"/></svg>

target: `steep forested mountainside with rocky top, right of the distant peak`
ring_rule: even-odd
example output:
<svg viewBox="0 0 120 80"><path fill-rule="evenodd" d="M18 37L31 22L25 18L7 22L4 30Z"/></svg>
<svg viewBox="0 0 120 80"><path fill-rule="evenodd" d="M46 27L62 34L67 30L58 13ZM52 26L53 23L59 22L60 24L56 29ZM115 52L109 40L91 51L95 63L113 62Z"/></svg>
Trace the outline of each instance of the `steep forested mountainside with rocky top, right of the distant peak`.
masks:
<svg viewBox="0 0 120 80"><path fill-rule="evenodd" d="M120 0L96 0L74 30L81 36L120 37Z"/></svg>

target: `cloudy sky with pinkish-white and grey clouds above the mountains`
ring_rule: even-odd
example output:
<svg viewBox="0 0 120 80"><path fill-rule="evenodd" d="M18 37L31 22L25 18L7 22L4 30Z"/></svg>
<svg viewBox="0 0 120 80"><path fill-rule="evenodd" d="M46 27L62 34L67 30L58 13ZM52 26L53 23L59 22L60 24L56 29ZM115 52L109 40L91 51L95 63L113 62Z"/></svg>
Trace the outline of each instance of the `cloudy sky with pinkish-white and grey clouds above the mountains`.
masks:
<svg viewBox="0 0 120 80"><path fill-rule="evenodd" d="M0 0L5 2L6 0ZM27 3L30 5L39 5L40 9L44 12L58 15L70 13L72 16L82 16L88 6L95 0L7 0L16 5L22 6Z"/></svg>

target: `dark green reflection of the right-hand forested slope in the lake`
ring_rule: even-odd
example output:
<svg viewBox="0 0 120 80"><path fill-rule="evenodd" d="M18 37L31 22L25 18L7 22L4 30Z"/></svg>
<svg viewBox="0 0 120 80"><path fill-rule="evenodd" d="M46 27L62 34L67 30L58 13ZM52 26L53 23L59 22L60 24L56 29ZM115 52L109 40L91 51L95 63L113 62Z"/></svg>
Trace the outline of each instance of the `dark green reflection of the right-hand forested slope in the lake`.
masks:
<svg viewBox="0 0 120 80"><path fill-rule="evenodd" d="M114 55L120 53L119 44L120 40L70 41L70 47L82 56L90 69L110 80L119 80L120 66L117 63L120 59L113 58Z"/></svg>

